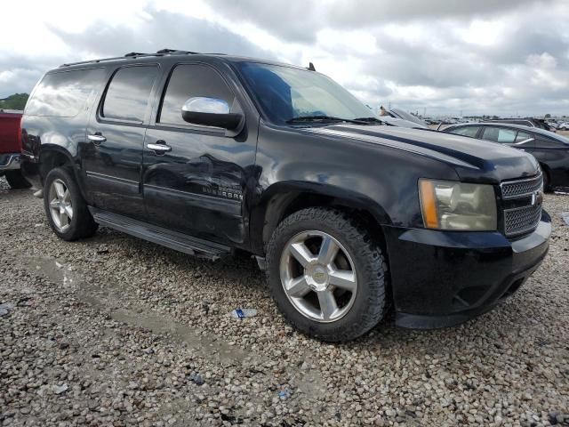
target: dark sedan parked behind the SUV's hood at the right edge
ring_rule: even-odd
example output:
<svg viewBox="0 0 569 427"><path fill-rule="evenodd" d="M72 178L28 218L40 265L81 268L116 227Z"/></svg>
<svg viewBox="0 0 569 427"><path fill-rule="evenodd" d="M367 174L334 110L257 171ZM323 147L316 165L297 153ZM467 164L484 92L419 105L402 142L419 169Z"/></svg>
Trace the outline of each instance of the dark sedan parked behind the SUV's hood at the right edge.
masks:
<svg viewBox="0 0 569 427"><path fill-rule="evenodd" d="M443 132L523 149L540 162L543 186L547 191L556 187L569 187L569 139L564 136L538 127L530 128L495 121L451 125Z"/></svg>

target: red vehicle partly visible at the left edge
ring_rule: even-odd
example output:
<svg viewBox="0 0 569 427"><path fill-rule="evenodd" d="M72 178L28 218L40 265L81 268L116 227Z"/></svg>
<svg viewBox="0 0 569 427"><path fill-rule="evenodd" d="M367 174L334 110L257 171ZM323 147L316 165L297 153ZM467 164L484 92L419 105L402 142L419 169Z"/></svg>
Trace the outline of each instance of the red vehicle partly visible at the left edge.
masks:
<svg viewBox="0 0 569 427"><path fill-rule="evenodd" d="M20 111L0 109L0 176L12 189L28 189L30 184L20 173Z"/></svg>

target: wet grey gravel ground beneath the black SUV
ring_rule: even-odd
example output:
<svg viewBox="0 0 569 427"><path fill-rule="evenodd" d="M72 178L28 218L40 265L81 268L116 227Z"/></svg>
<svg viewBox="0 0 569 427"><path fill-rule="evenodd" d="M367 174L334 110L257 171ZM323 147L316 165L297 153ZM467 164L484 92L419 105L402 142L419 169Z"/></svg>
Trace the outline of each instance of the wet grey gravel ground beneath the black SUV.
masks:
<svg viewBox="0 0 569 427"><path fill-rule="evenodd" d="M332 345L284 323L244 256L106 229L63 242L0 180L0 423L569 425L569 196L545 205L549 256L497 310L427 332L387 319ZM258 314L228 317L238 307Z"/></svg>

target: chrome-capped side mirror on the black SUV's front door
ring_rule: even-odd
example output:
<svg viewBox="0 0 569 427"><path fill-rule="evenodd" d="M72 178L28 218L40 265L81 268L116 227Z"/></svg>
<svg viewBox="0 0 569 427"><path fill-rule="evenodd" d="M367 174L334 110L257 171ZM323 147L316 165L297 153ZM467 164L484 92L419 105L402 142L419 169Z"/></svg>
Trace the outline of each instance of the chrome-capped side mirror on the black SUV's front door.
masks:
<svg viewBox="0 0 569 427"><path fill-rule="evenodd" d="M193 125L215 126L236 131L243 115L229 112L229 104L217 98L194 97L181 108L181 117Z"/></svg>

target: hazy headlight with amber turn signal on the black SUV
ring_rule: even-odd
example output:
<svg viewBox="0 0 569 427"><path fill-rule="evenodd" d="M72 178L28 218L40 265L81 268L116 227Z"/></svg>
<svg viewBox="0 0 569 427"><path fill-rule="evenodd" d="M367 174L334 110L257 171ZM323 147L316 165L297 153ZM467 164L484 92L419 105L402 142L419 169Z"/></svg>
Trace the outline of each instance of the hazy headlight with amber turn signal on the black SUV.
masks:
<svg viewBox="0 0 569 427"><path fill-rule="evenodd" d="M492 185L419 180L423 222L428 229L496 230Z"/></svg>

